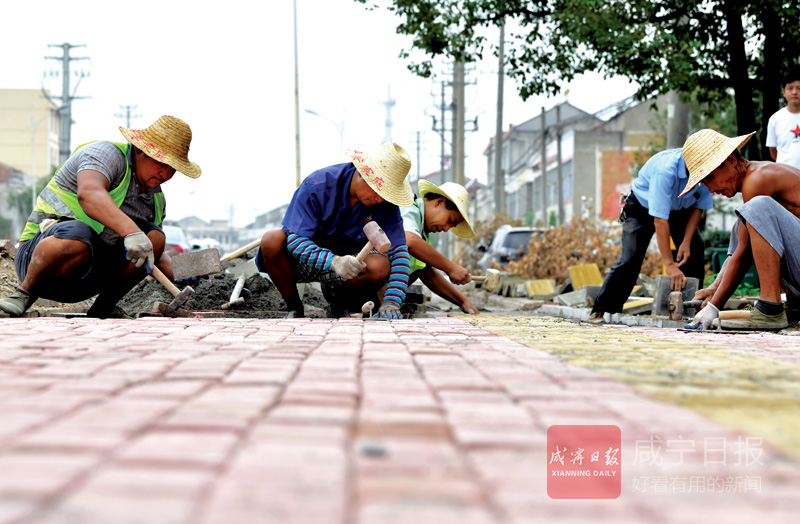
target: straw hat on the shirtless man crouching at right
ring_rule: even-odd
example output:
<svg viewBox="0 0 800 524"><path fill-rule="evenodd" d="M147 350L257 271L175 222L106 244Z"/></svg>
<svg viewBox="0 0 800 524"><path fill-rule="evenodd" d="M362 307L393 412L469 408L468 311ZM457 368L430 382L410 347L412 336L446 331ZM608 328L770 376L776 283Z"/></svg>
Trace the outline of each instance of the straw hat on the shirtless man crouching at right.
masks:
<svg viewBox="0 0 800 524"><path fill-rule="evenodd" d="M683 144L683 160L686 162L686 169L689 170L689 182L678 198L702 182L728 158L728 155L736 149L741 149L754 134L755 131L736 138L728 138L713 129L701 129L689 135Z"/></svg>

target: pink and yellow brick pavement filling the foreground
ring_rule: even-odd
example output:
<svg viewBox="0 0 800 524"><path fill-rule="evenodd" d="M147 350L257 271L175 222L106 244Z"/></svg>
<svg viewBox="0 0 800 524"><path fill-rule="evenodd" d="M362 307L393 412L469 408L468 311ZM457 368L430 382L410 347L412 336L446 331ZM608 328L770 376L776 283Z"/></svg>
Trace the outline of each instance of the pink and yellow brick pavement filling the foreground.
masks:
<svg viewBox="0 0 800 524"><path fill-rule="evenodd" d="M469 320L0 320L0 523L796 521L800 339Z"/></svg>

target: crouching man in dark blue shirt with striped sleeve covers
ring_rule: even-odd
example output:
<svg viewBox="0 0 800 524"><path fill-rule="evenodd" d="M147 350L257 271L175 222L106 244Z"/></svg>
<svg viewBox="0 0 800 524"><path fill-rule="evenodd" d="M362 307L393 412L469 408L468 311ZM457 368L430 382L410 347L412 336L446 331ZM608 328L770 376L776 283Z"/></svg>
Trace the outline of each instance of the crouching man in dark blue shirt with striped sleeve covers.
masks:
<svg viewBox="0 0 800 524"><path fill-rule="evenodd" d="M328 318L360 312L368 300L377 303L378 291L386 286L378 315L401 318L409 259L398 206L414 202L406 179L411 160L392 142L369 153L348 150L347 155L351 162L319 169L303 180L283 228L261 237L256 266L269 274L286 301L286 318L305 314L298 282L320 282ZM363 229L370 221L380 225L392 246L360 262L355 255L368 242Z"/></svg>

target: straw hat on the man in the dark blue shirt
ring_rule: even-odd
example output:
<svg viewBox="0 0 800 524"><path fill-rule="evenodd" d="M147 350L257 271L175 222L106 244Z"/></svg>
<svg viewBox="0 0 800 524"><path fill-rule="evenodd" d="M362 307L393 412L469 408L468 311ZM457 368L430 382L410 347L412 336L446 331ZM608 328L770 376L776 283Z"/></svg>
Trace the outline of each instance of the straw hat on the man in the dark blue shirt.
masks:
<svg viewBox="0 0 800 524"><path fill-rule="evenodd" d="M406 178L411 169L411 158L405 149L387 142L370 153L357 149L348 149L345 153L369 187L384 200L396 206L414 203L414 193Z"/></svg>

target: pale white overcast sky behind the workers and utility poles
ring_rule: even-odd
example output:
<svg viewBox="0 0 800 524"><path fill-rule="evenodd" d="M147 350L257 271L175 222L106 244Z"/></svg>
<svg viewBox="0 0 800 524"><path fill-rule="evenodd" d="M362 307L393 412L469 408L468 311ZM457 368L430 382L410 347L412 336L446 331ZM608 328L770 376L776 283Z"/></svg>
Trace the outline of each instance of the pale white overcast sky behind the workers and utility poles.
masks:
<svg viewBox="0 0 800 524"><path fill-rule="evenodd" d="M354 0L297 0L300 77L300 150L303 176L344 160L345 147L372 149L385 136L383 101L391 86L392 138L405 147L417 173L416 132L421 132L419 171L438 170L439 136L431 114L440 88L408 72L398 58L408 39L395 34L398 19L367 11ZM287 203L295 189L294 51L292 0L31 0L4 5L0 31L0 88L38 89L57 95L60 70L47 44L85 44L74 69L89 71L77 89L90 97L73 104L72 147L97 139L122 141L116 115L137 105L142 128L160 115L192 127L189 158L200 165L196 180L180 174L164 185L168 218L196 215L233 219L243 226ZM494 135L496 58L477 64L467 88L467 119L479 130L467 134L467 177L486 179L483 150ZM74 85L74 81L73 81ZM576 80L570 103L594 112L634 92L622 79L600 75ZM532 118L556 99L523 103L506 80L504 126ZM311 110L325 118L306 113ZM327 119L327 120L326 120ZM449 137L448 137L449 138Z"/></svg>

